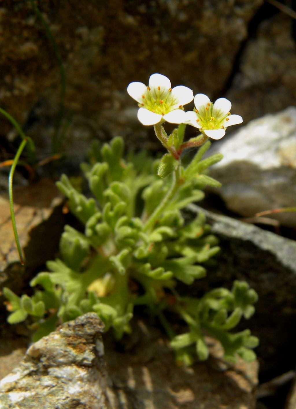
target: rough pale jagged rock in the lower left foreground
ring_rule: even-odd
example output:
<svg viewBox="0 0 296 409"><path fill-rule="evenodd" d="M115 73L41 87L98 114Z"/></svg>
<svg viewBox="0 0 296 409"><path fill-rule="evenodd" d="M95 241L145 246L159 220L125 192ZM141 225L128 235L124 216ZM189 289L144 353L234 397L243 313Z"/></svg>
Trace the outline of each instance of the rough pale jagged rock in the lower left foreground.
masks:
<svg viewBox="0 0 296 409"><path fill-rule="evenodd" d="M109 408L102 332L88 313L33 344L0 382L0 408Z"/></svg>

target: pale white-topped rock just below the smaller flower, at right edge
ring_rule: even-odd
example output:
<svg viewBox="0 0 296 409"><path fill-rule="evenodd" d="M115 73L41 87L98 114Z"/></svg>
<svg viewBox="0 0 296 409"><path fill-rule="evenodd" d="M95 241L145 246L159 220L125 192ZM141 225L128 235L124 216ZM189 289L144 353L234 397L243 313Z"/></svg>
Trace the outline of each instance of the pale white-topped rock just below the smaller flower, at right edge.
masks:
<svg viewBox="0 0 296 409"><path fill-rule="evenodd" d="M209 153L224 158L211 168L226 207L242 216L296 206L296 108L254 119L215 143ZM296 213L274 216L296 227Z"/></svg>

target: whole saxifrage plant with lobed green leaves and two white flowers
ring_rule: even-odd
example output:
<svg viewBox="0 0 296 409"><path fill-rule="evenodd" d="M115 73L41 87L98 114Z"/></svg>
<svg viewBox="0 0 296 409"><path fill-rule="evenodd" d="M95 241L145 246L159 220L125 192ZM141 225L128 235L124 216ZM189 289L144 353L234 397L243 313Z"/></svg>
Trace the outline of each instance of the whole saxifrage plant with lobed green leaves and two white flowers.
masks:
<svg viewBox="0 0 296 409"><path fill-rule="evenodd" d="M225 107L224 111L221 108L222 102L228 107L226 99L220 99L225 100L220 105L217 100L215 106L203 96L203 105L197 106L203 94L195 97L195 110L185 113L182 105L186 103L184 94L190 97L188 88L172 89L161 83L168 80L162 77L166 79L160 74L150 77L146 94L144 84L132 84L141 84L140 94L143 94L139 98L150 101L150 105L145 101L145 106L137 99L140 121L152 121L150 113L147 119L143 109L160 116L154 117L153 121L157 122L150 125L155 126L155 133L168 153L158 161L145 153L130 154L124 160L120 137L101 148L94 144L90 162L81 166L93 195L90 198L78 191L66 175L62 176L57 186L67 197L68 207L84 231L65 226L60 258L48 261L49 272L41 272L32 279L31 286L37 286L32 297L26 294L18 297L4 288L11 311L8 322L16 324L30 316L32 327L38 328L33 336L37 340L54 330L59 320L68 321L94 311L103 320L105 330L112 328L120 339L124 333L131 332L130 320L135 308L144 306L164 326L177 361L191 364L195 354L206 360L209 355L206 334L220 341L226 359L235 361L240 355L251 361L256 358L252 348L258 345L258 339L247 329L233 332L242 317L249 319L253 315L253 304L257 301L256 292L246 282L235 281L231 290L214 289L199 299L181 296L176 289L178 281L191 285L196 279L204 278L204 263L219 251L218 240L211 234L203 213L185 221L182 209L201 200L206 185L220 186L205 173L222 155L214 154L206 159L203 156L211 145L208 136L216 135L215 139L220 139L226 118L230 118L231 124L235 118L231 119L228 109L225 115ZM159 85L153 88L153 81ZM132 84L129 94L139 87ZM161 112L164 104L165 113ZM175 116L179 126L167 136L162 123L174 122L170 112L176 109L182 112ZM184 142L184 122L199 128L201 135ZM213 134L216 129L218 133ZM184 167L181 153L192 146L199 149ZM181 319L187 329L181 326L181 333L175 333L169 317Z"/></svg>

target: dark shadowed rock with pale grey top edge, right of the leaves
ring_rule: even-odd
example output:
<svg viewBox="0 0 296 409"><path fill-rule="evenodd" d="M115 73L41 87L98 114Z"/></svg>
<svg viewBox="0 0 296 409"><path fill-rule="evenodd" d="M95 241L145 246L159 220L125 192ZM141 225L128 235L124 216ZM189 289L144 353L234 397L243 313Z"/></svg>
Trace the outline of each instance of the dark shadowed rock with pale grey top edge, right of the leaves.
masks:
<svg viewBox="0 0 296 409"><path fill-rule="evenodd" d="M192 205L193 212L206 214L213 234L220 239L216 264L207 277L180 291L201 296L216 287L231 288L234 280L247 281L258 293L256 312L241 329L250 328L259 337L256 353L260 371L269 379L296 362L296 242L256 226L220 216Z"/></svg>

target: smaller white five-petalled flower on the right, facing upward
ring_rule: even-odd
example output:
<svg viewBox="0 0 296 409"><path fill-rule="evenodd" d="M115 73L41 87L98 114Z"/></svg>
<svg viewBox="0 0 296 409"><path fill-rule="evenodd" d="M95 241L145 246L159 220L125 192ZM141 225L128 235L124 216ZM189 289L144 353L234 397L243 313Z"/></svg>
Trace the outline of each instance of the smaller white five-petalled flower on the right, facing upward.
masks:
<svg viewBox="0 0 296 409"><path fill-rule="evenodd" d="M185 124L199 128L201 132L213 139L221 139L228 126L241 124L240 115L231 115L231 102L219 98L215 103L204 94L194 97L195 110L186 112Z"/></svg>

